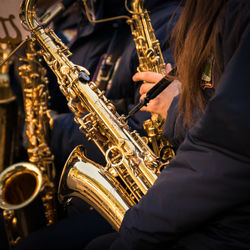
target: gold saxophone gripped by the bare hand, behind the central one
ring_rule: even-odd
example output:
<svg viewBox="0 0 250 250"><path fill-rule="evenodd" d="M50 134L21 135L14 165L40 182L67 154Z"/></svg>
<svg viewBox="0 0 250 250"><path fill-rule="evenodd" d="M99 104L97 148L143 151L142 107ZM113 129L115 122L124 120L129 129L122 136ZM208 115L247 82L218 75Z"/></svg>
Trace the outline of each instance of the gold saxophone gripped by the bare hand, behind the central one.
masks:
<svg viewBox="0 0 250 250"><path fill-rule="evenodd" d="M132 14L127 20L134 37L135 47L139 59L138 72L156 72L166 74L166 64L164 62L160 43L156 39L151 25L148 11L143 7L144 0L132 0L131 8L127 10ZM174 157L175 152L170 143L162 137L164 119L156 114L151 114L151 119L143 123L143 128L147 133L147 140L151 143L153 151L166 164Z"/></svg>

